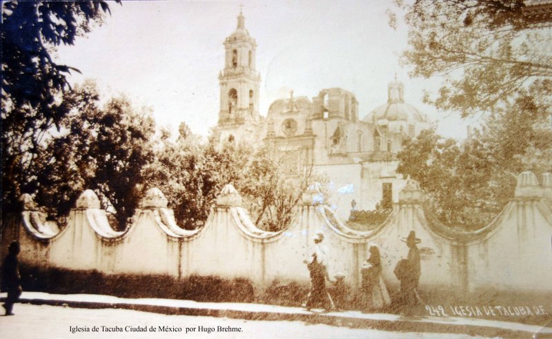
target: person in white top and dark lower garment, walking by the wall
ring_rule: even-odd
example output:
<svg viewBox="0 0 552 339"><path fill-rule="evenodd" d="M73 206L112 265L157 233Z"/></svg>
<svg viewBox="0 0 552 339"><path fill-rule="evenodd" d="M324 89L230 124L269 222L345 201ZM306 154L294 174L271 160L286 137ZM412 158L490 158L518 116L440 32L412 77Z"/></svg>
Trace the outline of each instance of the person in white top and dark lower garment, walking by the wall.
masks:
<svg viewBox="0 0 552 339"><path fill-rule="evenodd" d="M314 307L322 307L326 311L335 309L330 293L326 289L326 279L329 281L331 279L326 267L326 254L328 250L325 246L322 246L322 240L324 240L324 233L317 232L314 236L316 251L312 255L313 259L311 262L304 260L311 275L311 291L308 293L307 301L304 305L307 310Z"/></svg>

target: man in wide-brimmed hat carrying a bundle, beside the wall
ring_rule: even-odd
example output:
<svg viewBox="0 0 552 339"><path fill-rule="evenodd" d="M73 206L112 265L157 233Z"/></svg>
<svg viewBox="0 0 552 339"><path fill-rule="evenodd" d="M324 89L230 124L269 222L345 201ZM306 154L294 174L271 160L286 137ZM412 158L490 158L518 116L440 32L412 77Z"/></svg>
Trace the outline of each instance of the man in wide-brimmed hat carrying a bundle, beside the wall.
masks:
<svg viewBox="0 0 552 339"><path fill-rule="evenodd" d="M408 246L408 257L400 260L395 267L395 275L400 279L401 303L406 309L410 309L418 304L419 297L417 296L418 282L420 281L420 250L416 244L420 244L421 240L416 238L414 231L408 233L408 237L402 238Z"/></svg>

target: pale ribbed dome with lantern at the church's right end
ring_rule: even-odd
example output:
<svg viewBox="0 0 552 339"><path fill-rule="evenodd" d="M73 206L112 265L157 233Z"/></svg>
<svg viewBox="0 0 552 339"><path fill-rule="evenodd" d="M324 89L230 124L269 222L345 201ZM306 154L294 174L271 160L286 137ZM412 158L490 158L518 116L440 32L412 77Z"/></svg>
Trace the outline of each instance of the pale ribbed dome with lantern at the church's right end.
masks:
<svg viewBox="0 0 552 339"><path fill-rule="evenodd" d="M401 82L392 82L388 86L387 103L368 113L363 122L377 122L378 120L427 122L426 117L414 106L404 102L404 86Z"/></svg>

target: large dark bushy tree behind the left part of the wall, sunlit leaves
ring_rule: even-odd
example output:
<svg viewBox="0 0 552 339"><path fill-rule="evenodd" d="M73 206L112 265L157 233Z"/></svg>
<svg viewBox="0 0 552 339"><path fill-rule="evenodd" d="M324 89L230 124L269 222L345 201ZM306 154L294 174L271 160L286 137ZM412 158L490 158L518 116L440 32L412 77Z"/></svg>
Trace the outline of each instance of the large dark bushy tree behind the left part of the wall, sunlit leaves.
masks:
<svg viewBox="0 0 552 339"><path fill-rule="evenodd" d="M71 90L64 98L70 113L59 122L61 133L41 143L37 174L27 189L36 188L37 202L53 206L52 212L60 216L91 188L103 198L104 207L115 209L117 227L123 229L143 193L141 170L152 161L153 119L124 97L99 108L93 84Z"/></svg>

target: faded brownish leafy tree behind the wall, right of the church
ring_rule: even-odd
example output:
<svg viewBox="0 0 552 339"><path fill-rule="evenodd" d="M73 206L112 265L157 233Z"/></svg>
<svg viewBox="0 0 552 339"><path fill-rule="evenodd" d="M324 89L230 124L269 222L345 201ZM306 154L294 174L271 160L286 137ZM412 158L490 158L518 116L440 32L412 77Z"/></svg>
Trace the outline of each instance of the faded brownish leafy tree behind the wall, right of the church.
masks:
<svg viewBox="0 0 552 339"><path fill-rule="evenodd" d="M522 93L489 115L462 144L433 130L408 139L397 155L397 173L420 182L428 204L445 224L464 229L484 226L513 197L520 172L552 169L550 85L550 81L535 83L548 95Z"/></svg>

